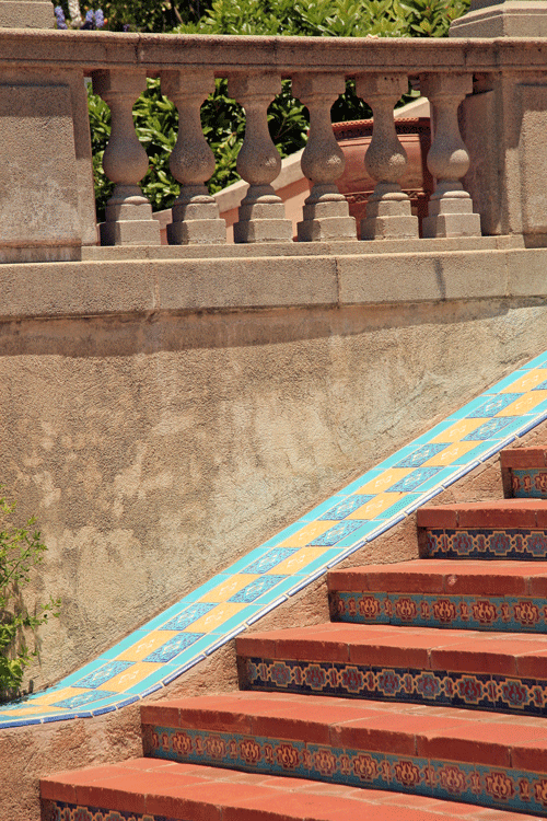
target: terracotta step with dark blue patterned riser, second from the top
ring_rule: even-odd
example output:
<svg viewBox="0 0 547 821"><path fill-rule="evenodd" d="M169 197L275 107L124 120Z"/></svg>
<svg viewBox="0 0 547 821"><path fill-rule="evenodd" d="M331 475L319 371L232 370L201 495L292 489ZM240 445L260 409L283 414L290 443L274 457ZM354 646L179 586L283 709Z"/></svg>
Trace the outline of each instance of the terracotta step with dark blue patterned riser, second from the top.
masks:
<svg viewBox="0 0 547 821"><path fill-rule="evenodd" d="M547 501L500 499L417 511L420 547L430 558L546 559Z"/></svg>

